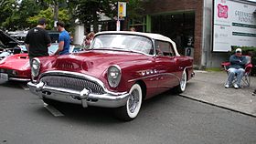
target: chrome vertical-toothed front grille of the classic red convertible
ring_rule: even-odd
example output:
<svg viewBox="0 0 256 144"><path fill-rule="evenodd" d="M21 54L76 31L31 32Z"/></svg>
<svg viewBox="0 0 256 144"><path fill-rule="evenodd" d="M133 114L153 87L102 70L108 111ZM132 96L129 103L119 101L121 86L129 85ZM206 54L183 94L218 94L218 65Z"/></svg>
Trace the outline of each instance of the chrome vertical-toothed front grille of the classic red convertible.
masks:
<svg viewBox="0 0 256 144"><path fill-rule="evenodd" d="M104 94L103 88L97 83L78 77L45 76L41 78L50 87L62 87L67 89L82 90L87 88L91 93Z"/></svg>

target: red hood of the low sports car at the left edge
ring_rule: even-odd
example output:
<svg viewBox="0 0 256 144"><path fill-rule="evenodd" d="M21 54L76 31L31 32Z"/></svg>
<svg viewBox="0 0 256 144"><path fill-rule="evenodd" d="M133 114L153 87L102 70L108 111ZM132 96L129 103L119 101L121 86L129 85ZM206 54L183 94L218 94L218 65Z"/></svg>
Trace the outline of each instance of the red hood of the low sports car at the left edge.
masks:
<svg viewBox="0 0 256 144"><path fill-rule="evenodd" d="M28 55L25 53L5 57L0 64L0 68L27 70L30 68Z"/></svg>

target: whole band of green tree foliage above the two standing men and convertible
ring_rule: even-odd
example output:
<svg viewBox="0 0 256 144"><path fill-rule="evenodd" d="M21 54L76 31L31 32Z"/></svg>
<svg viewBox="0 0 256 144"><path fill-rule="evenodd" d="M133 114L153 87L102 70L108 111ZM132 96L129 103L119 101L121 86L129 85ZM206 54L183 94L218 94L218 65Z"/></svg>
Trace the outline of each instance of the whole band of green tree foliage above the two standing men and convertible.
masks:
<svg viewBox="0 0 256 144"><path fill-rule="evenodd" d="M76 19L85 26L94 26L97 31L99 13L107 15L115 21L117 17L118 0L0 0L0 28L7 30L28 29L37 25L39 17L48 19L48 29L53 28L54 16L66 23L71 29ZM56 12L53 12L54 7ZM127 3L127 16L140 17L142 11L141 0L129 0ZM55 14L55 15L54 15Z"/></svg>

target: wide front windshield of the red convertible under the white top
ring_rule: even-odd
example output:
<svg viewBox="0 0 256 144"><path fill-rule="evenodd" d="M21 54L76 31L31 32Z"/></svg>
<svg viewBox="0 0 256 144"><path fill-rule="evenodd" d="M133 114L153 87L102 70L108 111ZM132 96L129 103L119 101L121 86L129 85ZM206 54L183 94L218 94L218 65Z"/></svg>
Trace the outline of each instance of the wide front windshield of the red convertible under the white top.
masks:
<svg viewBox="0 0 256 144"><path fill-rule="evenodd" d="M96 36L91 44L91 49L117 49L123 51L133 51L153 54L152 41L144 36L134 35L100 35Z"/></svg>

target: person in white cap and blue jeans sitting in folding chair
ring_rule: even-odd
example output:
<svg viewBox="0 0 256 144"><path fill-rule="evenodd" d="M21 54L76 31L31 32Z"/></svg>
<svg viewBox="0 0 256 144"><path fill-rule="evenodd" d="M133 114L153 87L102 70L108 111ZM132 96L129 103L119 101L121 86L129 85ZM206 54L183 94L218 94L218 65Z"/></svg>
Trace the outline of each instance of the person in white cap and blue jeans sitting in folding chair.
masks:
<svg viewBox="0 0 256 144"><path fill-rule="evenodd" d="M237 48L236 53L229 57L230 67L229 67L229 76L228 81L225 85L226 88L229 88L232 85L234 77L237 77L237 80L234 82L233 86L238 89L240 87L241 78L244 75L244 67L247 63L247 59L244 56L241 56L241 49Z"/></svg>

